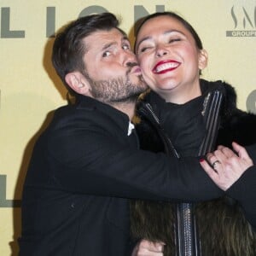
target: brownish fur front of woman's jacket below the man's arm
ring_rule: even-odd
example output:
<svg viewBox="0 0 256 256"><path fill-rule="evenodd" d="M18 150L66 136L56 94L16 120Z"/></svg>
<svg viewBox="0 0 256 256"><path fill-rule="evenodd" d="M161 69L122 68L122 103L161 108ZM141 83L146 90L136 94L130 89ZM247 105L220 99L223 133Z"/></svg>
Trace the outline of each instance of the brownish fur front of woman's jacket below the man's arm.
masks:
<svg viewBox="0 0 256 256"><path fill-rule="evenodd" d="M195 206L202 256L255 256L256 235L240 207L228 198ZM131 201L131 234L164 241L164 255L175 256L175 204Z"/></svg>

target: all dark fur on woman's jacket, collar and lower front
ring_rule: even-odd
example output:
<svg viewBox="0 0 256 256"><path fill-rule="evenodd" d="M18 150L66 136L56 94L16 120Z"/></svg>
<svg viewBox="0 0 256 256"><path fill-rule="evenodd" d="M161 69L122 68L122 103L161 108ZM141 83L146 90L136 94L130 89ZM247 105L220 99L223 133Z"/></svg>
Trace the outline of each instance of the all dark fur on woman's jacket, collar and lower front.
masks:
<svg viewBox="0 0 256 256"><path fill-rule="evenodd" d="M203 96L211 90L221 90L224 103L218 143L230 146L235 140L247 145L256 143L256 115L236 108L236 91L222 81L201 80ZM154 152L164 151L157 135L159 127L148 122L143 103L149 102L156 114L166 102L149 91L138 102L137 114L143 119L137 125L142 148ZM201 239L202 256L255 256L256 235L247 223L240 207L229 198L207 201L195 206L195 216ZM154 201L131 201L131 233L137 239L166 242L166 256L175 255L176 207L172 203Z"/></svg>

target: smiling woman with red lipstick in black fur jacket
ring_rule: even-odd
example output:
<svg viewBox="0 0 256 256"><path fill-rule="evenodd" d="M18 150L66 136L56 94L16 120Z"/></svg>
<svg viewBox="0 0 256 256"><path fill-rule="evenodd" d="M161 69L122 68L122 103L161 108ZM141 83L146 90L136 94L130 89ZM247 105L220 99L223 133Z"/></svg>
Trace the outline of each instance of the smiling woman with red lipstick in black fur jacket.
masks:
<svg viewBox="0 0 256 256"><path fill-rule="evenodd" d="M235 90L222 81L200 79L207 51L186 20L172 12L149 15L137 30L135 51L151 89L137 108L142 148L184 157L233 141L256 143L256 116L236 108ZM214 162L218 171L221 162ZM253 169L217 201L132 203L133 235L163 241L165 255L256 255Z"/></svg>

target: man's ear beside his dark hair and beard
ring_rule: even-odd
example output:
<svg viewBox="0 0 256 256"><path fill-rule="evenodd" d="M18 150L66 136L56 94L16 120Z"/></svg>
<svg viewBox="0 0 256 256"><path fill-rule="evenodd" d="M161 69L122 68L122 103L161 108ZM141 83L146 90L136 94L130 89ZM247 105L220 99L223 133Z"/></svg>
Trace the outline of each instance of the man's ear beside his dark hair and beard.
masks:
<svg viewBox="0 0 256 256"><path fill-rule="evenodd" d="M65 81L78 94L88 95L90 84L79 71L67 73Z"/></svg>

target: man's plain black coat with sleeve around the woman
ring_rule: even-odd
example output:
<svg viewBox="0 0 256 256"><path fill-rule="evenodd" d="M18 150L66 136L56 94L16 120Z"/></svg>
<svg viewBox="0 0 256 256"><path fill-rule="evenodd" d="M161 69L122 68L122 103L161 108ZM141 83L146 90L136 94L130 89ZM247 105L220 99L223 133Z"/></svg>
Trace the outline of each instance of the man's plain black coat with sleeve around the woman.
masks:
<svg viewBox="0 0 256 256"><path fill-rule="evenodd" d="M132 247L128 198L222 195L198 160L137 149L128 125L125 113L86 96L55 111L26 175L20 256L126 255Z"/></svg>

